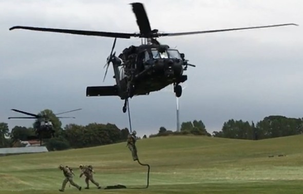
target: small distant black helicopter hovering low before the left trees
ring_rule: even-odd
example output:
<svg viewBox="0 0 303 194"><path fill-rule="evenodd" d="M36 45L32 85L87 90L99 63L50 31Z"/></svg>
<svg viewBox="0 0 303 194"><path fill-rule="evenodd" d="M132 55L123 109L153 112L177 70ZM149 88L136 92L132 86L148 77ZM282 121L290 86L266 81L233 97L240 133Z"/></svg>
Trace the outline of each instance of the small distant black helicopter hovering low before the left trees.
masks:
<svg viewBox="0 0 303 194"><path fill-rule="evenodd" d="M30 115L31 117L9 117L8 119L37 119L38 123L37 126L34 127L35 130L35 134L36 136L34 137L28 137L28 139L39 139L40 140L40 145L42 145L42 139L50 139L50 138L54 138L54 128L53 125L48 117L48 115L46 114L33 114L33 113L29 113L29 112L25 112L22 110L17 110L17 109L11 109L13 111L16 112L20 112L23 114L27 114ZM70 110L70 111L66 111L66 112L60 112L60 113L56 113L55 115L59 115L59 114L64 114L64 113L68 113L68 112L73 112L73 111L77 111L77 110L82 110L82 108L79 109L75 109L75 110ZM66 118L73 118L74 117L57 117L60 119L66 119Z"/></svg>

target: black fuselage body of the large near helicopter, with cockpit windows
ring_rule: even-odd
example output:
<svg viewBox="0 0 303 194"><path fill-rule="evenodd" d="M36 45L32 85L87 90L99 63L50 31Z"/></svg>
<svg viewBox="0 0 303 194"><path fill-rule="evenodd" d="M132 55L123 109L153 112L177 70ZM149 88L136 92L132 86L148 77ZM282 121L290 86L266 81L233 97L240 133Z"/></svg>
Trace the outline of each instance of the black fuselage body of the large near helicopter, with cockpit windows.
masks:
<svg viewBox="0 0 303 194"><path fill-rule="evenodd" d="M114 71L115 66L120 66L117 86L120 85L120 91L127 91L130 87L131 96L146 95L187 80L187 76L183 75L186 70L183 55L167 45L131 46L119 56L122 64L113 64ZM127 92L119 93L121 99L128 98L128 95Z"/></svg>

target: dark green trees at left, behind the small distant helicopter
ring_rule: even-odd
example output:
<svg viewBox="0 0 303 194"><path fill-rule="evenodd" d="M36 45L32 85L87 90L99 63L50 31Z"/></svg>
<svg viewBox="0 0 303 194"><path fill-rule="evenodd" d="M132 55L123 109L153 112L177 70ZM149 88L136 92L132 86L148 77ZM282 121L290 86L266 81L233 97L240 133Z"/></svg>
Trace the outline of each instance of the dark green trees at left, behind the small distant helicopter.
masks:
<svg viewBox="0 0 303 194"><path fill-rule="evenodd" d="M43 110L40 115L47 115L55 130L54 138L43 139L49 151L69 148L83 148L106 145L127 140L129 130L119 129L115 124L90 123L88 125L68 124L62 128L61 121L51 110ZM33 127L15 126L9 132L7 123L0 123L0 147L21 147L18 142L27 141L34 137L35 128L39 127L40 120L36 119ZM5 137L9 137L6 139Z"/></svg>

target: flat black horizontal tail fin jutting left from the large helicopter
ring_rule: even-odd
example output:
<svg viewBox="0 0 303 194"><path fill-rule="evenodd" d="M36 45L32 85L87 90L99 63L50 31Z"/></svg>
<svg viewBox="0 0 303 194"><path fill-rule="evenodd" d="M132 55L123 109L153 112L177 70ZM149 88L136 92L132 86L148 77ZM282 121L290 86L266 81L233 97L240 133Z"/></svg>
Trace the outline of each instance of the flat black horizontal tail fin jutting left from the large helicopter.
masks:
<svg viewBox="0 0 303 194"><path fill-rule="evenodd" d="M117 86L89 86L86 96L119 96Z"/></svg>

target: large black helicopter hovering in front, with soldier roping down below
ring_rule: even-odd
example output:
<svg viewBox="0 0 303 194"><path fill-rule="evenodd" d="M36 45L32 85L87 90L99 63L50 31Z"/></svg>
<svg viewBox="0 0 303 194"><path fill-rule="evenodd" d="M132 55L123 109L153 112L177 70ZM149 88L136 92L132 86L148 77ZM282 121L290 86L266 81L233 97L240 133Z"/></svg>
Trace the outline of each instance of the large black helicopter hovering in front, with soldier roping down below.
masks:
<svg viewBox="0 0 303 194"><path fill-rule="evenodd" d="M60 32L91 36L115 37L110 55L107 58L107 63L104 79L107 73L109 63L113 65L113 71L116 79L114 86L93 86L86 88L87 96L119 96L125 100L123 112L126 111L128 98L134 95L147 95L150 92L161 90L167 85L174 85L174 92L177 97L182 94L182 87L179 85L187 80L187 75L183 71L188 64L188 60L184 59L184 53L179 53L176 49L169 48L168 45L161 45L156 39L160 36L179 36L200 33L223 32L232 30L244 30L254 28L268 28L277 26L287 26L296 24L279 24L271 26L257 26L247 28L233 28L221 30L207 30L194 32L180 33L160 33L157 29L151 30L149 20L143 4L132 3L132 11L137 18L137 24L140 33L117 33L117 32L101 32L101 31L84 31L84 30L69 30L69 29L53 29L53 28L36 28L26 26L14 26L13 29L27 29L36 31ZM296 25L297 26L297 25ZM130 46L125 48L119 57L113 53L117 38L140 37L144 38L144 43L140 46ZM103 79L103 81L104 81Z"/></svg>

